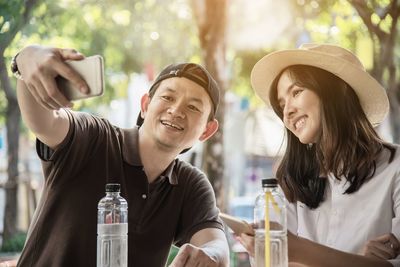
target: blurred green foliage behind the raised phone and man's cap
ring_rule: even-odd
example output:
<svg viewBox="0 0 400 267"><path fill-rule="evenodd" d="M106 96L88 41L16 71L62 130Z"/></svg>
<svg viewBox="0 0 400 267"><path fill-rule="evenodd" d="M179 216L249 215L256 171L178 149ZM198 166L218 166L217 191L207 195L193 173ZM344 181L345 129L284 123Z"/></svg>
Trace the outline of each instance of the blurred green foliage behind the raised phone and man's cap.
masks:
<svg viewBox="0 0 400 267"><path fill-rule="evenodd" d="M11 19L10 10L21 12L22 0L9 3L1 14ZM105 95L76 103L78 108L88 108L125 97L130 74L142 72L147 64L158 72L171 62L188 61L199 54L195 30L190 8L182 0L165 4L154 0L45 0L5 55L9 60L32 43L103 55Z"/></svg>

